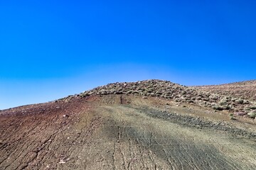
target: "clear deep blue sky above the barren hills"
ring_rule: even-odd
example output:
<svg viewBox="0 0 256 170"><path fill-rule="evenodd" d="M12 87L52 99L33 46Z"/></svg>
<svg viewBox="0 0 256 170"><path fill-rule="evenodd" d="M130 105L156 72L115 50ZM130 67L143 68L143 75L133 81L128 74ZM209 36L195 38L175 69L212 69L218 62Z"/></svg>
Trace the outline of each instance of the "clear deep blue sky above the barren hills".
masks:
<svg viewBox="0 0 256 170"><path fill-rule="evenodd" d="M256 1L0 0L0 109L116 81L256 79Z"/></svg>

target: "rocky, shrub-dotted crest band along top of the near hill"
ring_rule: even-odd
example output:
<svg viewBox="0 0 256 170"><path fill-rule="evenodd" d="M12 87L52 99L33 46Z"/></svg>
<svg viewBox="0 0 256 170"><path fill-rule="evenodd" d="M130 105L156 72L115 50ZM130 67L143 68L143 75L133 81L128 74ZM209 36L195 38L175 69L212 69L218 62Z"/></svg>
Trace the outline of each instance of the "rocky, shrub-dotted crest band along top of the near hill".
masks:
<svg viewBox="0 0 256 170"><path fill-rule="evenodd" d="M213 108L216 111L226 110L237 115L248 115L251 118L256 117L255 101L238 98L237 96L227 96L211 91L203 91L203 89L198 90L194 87L183 86L174 84L171 81L157 79L107 84L90 91L84 91L75 96L87 97L108 94L137 95L143 96L144 98L148 96L159 97L178 103L194 103L198 106ZM68 101L75 96L68 96L67 98L63 98L63 100Z"/></svg>

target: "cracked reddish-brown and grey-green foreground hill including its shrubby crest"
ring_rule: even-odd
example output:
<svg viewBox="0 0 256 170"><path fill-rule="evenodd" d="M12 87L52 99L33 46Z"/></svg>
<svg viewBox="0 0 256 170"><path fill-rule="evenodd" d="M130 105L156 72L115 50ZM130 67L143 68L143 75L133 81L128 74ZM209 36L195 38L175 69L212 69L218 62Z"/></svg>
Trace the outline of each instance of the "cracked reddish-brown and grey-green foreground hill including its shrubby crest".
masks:
<svg viewBox="0 0 256 170"><path fill-rule="evenodd" d="M0 169L256 169L255 119L230 118L254 101L223 98L153 80L0 111Z"/></svg>

